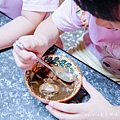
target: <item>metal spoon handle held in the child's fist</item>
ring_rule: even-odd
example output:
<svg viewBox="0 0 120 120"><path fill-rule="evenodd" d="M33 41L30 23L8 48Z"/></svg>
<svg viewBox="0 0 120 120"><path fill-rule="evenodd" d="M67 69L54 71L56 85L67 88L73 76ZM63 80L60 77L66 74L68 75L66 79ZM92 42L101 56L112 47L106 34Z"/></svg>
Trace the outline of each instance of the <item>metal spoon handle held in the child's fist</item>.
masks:
<svg viewBox="0 0 120 120"><path fill-rule="evenodd" d="M21 42L19 42L19 41L15 41L15 45L17 46L17 47L19 47L20 49L23 49L23 50L25 50L25 48L23 47L23 45L22 45L22 43ZM52 68L46 63L46 62L44 62L41 58L39 58L38 56L36 56L37 57L37 60L39 61L39 62L41 62L43 65L45 65L47 68L49 68L50 70L52 70ZM52 70L53 71L53 70Z"/></svg>

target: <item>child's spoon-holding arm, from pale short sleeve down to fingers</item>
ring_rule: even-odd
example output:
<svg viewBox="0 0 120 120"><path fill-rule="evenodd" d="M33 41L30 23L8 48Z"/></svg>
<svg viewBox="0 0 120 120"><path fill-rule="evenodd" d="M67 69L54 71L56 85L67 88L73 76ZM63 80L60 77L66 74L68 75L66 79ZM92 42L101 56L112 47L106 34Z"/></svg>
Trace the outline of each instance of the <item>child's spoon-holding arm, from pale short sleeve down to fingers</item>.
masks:
<svg viewBox="0 0 120 120"><path fill-rule="evenodd" d="M81 23L76 25L76 22L80 21L72 3L72 0L65 0L52 14L52 18L49 17L40 23L34 36L24 36L19 39L26 50L20 50L14 45L13 55L18 67L23 70L30 69L36 62L36 55L41 57L56 42L62 31L81 27ZM71 6L73 12L70 12Z"/></svg>

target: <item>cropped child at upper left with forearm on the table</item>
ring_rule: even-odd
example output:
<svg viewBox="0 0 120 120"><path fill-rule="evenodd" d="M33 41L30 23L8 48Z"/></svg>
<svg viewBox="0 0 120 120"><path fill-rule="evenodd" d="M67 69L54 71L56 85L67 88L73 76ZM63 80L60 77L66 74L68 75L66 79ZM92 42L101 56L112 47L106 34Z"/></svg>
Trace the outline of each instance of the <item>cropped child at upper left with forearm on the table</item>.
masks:
<svg viewBox="0 0 120 120"><path fill-rule="evenodd" d="M14 19L0 28L0 50L11 47L23 35L33 34L38 24L58 6L59 0L0 0L0 11ZM58 43L62 48L60 39Z"/></svg>

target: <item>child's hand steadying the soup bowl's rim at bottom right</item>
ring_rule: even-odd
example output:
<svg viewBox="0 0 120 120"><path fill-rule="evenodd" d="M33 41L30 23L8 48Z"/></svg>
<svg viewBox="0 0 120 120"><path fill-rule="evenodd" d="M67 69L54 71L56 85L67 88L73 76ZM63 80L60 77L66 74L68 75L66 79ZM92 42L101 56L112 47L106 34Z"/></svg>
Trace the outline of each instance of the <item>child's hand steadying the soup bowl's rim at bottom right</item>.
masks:
<svg viewBox="0 0 120 120"><path fill-rule="evenodd" d="M65 104L50 102L46 108L59 120L117 120L119 119L113 107L85 78L83 86L89 92L91 99L86 103Z"/></svg>

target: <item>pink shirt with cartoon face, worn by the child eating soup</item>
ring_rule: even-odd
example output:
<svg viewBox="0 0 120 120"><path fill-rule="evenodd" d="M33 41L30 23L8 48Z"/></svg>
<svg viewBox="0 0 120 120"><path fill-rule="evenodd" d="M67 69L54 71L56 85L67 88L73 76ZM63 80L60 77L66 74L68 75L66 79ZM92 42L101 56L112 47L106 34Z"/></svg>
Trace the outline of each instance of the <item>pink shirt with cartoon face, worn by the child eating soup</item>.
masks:
<svg viewBox="0 0 120 120"><path fill-rule="evenodd" d="M81 10L73 0L65 2L53 13L53 22L62 31L89 26L84 36L86 47L111 73L120 75L120 30L96 25L95 18Z"/></svg>

